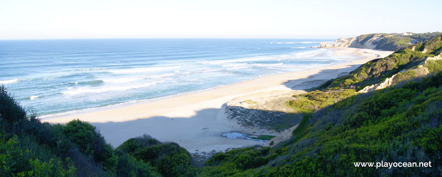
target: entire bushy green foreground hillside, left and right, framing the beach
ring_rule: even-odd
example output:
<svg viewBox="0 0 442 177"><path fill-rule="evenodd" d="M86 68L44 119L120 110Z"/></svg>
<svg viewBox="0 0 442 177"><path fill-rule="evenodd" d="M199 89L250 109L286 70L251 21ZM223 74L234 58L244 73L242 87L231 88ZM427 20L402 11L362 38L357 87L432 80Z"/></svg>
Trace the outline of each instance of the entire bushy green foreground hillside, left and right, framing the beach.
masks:
<svg viewBox="0 0 442 177"><path fill-rule="evenodd" d="M439 36L293 96L286 104L303 118L288 141L218 153L203 167L176 143L143 136L114 149L87 122L41 123L2 85L0 176L441 176L441 60L428 61L425 76L403 72L400 84L356 92L441 52ZM354 162L432 166L355 167Z"/></svg>

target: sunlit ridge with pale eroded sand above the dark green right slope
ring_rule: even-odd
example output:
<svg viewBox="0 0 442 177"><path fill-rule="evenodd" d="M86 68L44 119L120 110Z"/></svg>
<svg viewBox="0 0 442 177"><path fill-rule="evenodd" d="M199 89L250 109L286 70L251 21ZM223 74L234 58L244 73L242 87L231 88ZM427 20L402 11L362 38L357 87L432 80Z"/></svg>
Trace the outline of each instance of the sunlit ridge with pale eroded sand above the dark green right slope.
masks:
<svg viewBox="0 0 442 177"><path fill-rule="evenodd" d="M369 61L349 75L329 80L317 89L345 87L357 91L364 90L362 92L382 89L400 80L421 77L438 70L438 63L441 63L440 53L442 39L438 36L399 50L388 57Z"/></svg>

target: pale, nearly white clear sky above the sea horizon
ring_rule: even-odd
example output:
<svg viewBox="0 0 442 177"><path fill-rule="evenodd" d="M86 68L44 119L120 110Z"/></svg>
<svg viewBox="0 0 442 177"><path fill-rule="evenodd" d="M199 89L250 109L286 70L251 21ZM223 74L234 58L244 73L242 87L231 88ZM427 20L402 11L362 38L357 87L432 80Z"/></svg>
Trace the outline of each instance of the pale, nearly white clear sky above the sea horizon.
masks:
<svg viewBox="0 0 442 177"><path fill-rule="evenodd" d="M339 38L442 31L442 1L0 0L0 39Z"/></svg>

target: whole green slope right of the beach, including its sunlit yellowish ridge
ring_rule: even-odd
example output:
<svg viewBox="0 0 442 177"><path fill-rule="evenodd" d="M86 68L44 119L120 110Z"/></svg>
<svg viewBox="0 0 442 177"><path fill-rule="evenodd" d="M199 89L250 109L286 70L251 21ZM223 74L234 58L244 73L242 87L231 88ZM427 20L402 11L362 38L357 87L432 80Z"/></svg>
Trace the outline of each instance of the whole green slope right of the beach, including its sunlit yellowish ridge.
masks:
<svg viewBox="0 0 442 177"><path fill-rule="evenodd" d="M304 113L290 140L273 148L219 153L199 176L440 176L442 62L426 64L428 78L367 94L361 89L426 57L440 54L440 37L362 65L294 96ZM423 53L423 51L427 51ZM353 162L432 162L432 167L355 167Z"/></svg>

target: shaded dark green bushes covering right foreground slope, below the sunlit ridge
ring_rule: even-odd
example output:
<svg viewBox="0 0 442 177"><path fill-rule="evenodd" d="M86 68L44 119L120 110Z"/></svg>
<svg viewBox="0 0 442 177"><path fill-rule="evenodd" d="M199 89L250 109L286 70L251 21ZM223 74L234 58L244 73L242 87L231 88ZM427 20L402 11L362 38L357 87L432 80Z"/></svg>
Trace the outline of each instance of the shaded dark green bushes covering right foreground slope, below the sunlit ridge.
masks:
<svg viewBox="0 0 442 177"><path fill-rule="evenodd" d="M245 148L213 156L201 176L442 175L442 73L400 88L350 96L306 115L292 139L270 148L268 153L251 156L267 159L264 165L233 168L240 166L233 157L260 151ZM381 161L431 161L433 166L376 169L353 165Z"/></svg>

